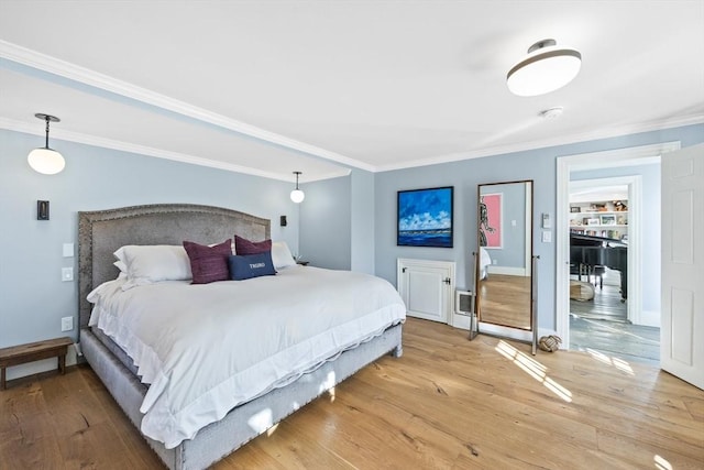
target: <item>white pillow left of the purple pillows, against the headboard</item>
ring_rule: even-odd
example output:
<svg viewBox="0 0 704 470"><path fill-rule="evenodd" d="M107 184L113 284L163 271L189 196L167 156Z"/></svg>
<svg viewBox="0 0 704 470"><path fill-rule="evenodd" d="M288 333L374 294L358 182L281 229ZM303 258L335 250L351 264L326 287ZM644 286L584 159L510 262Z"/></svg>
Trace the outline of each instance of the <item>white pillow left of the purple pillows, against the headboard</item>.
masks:
<svg viewBox="0 0 704 470"><path fill-rule="evenodd" d="M190 260L184 247L129 244L113 254L127 266L128 282L122 286L123 291L161 281L193 278Z"/></svg>

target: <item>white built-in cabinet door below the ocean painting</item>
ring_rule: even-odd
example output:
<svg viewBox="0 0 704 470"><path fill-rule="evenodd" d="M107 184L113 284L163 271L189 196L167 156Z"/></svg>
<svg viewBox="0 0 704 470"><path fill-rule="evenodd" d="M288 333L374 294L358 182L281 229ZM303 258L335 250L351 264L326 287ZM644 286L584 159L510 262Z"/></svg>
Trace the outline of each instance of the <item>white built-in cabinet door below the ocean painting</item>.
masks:
<svg viewBox="0 0 704 470"><path fill-rule="evenodd" d="M451 261L398 259L398 293L408 316L450 324L454 299L454 270Z"/></svg>

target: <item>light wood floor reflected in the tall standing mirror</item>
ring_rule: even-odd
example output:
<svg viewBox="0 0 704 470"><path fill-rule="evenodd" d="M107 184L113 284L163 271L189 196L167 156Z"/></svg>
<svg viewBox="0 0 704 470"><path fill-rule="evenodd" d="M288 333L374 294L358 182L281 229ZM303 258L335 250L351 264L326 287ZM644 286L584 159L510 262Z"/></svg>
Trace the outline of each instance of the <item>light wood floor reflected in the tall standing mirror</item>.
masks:
<svg viewBox="0 0 704 470"><path fill-rule="evenodd" d="M480 282L480 318L530 329L530 277L490 274Z"/></svg>

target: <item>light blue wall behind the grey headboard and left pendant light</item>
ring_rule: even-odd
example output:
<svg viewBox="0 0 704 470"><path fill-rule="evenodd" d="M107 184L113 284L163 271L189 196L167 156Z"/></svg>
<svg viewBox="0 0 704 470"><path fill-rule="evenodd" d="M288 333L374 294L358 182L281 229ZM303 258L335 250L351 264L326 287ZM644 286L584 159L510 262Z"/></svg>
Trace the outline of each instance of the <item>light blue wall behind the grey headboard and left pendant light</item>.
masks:
<svg viewBox="0 0 704 470"><path fill-rule="evenodd" d="M77 258L63 258L62 245L75 243L77 252L79 210L155 203L228 207L271 219L272 238L298 251L299 207L289 199L290 183L52 142L66 170L41 175L26 155L42 138L0 130L0 348L65 336L62 317L73 316L77 324L77 282L62 282L61 269L77 272ZM51 201L51 220L36 220L37 199ZM278 223L282 215L288 217L285 228ZM74 329L70 336L76 335ZM9 378L31 370L22 368L9 370Z"/></svg>

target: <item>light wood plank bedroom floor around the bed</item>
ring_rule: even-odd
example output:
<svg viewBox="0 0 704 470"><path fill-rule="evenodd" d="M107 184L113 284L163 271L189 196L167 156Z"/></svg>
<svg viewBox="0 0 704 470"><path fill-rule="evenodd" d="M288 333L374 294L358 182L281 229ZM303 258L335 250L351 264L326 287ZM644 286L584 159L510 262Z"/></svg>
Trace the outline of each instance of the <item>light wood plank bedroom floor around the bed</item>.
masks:
<svg viewBox="0 0 704 470"><path fill-rule="evenodd" d="M88 367L0 392L0 468L151 469ZM702 469L704 392L657 368L409 318L383 358L217 469Z"/></svg>

